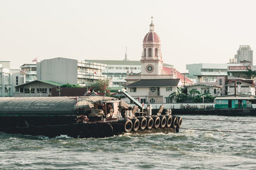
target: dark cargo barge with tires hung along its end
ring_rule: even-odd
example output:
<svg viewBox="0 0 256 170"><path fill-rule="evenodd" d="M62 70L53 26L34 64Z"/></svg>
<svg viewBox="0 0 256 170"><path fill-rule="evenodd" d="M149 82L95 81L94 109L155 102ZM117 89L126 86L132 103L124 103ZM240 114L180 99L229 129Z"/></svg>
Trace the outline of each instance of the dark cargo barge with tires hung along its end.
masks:
<svg viewBox="0 0 256 170"><path fill-rule="evenodd" d="M181 117L161 106L129 106L113 97L3 97L0 131L12 134L61 134L72 138L104 138L125 132L179 132Z"/></svg>

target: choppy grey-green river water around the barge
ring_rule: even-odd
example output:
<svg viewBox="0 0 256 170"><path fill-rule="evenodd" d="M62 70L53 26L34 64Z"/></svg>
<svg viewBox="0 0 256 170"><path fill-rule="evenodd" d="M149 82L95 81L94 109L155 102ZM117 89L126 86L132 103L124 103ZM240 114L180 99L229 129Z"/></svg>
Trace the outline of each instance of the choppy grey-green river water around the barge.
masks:
<svg viewBox="0 0 256 170"><path fill-rule="evenodd" d="M256 132L256 117L180 115L182 127ZM256 134L180 129L111 138L47 138L0 132L0 169L256 169Z"/></svg>

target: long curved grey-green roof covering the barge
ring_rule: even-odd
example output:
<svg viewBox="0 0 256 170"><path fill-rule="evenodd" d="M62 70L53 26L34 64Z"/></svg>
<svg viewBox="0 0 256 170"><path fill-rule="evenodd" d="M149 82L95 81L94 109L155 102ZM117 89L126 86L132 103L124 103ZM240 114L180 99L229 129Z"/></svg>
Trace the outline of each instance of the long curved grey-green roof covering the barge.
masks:
<svg viewBox="0 0 256 170"><path fill-rule="evenodd" d="M93 108L95 101L113 97L0 97L1 115L77 115L78 107Z"/></svg>

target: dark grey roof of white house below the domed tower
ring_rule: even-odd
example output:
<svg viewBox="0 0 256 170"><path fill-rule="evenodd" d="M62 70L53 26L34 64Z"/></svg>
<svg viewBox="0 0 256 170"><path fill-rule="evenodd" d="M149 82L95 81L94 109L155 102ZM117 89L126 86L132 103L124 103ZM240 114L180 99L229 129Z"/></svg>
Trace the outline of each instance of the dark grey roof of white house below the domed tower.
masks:
<svg viewBox="0 0 256 170"><path fill-rule="evenodd" d="M173 87L179 85L179 79L145 79L127 85L126 87Z"/></svg>

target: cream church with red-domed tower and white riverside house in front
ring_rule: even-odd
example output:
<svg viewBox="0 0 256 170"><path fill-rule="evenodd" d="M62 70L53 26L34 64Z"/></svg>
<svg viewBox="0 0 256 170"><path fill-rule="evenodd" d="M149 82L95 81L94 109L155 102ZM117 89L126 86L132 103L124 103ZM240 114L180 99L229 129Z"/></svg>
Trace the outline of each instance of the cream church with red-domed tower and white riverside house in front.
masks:
<svg viewBox="0 0 256 170"><path fill-rule="evenodd" d="M163 66L161 39L154 31L153 17L143 39L140 63L141 73L130 73L126 78L127 92L140 103L176 103L170 94L193 83L173 66Z"/></svg>

